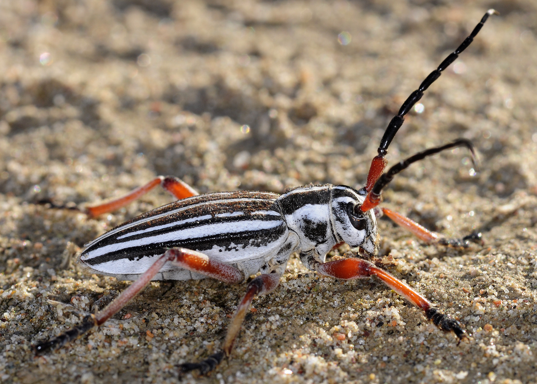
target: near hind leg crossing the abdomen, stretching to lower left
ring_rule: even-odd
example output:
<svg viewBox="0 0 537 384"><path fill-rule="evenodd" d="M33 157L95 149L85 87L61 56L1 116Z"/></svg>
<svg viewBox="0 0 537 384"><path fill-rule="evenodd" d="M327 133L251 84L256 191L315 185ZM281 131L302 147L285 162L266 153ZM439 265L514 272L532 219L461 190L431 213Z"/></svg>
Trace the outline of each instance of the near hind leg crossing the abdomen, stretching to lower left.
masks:
<svg viewBox="0 0 537 384"><path fill-rule="evenodd" d="M230 284L238 284L244 280L244 274L240 270L227 264L212 261L203 253L184 248L169 249L164 255L159 257L146 272L142 273L133 284L108 304L106 308L96 315L85 316L80 324L64 334L55 337L46 343L38 344L35 347L35 351L37 353L42 353L50 349L56 349L63 344L84 335L93 327L103 324L114 314L118 313L121 308L125 307L134 296L139 294L167 262L178 264L188 270L199 272L208 277L229 282Z"/></svg>

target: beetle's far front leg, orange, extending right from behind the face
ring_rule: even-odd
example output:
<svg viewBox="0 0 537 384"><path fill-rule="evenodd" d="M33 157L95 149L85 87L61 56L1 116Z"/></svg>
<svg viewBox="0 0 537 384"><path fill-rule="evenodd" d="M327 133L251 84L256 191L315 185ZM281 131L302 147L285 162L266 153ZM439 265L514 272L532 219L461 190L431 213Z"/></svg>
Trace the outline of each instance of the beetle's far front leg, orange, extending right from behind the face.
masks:
<svg viewBox="0 0 537 384"><path fill-rule="evenodd" d="M430 231L429 229L420 226L417 222L410 220L406 216L403 216L398 212L391 211L391 209L382 208L382 213L388 216L388 218L390 218L398 226L410 231L412 234L418 237L419 240L422 240L427 244L441 244L454 248L468 248L470 242L483 242L481 232L478 231L475 231L463 238L445 238L441 237L437 233L434 233L433 231Z"/></svg>

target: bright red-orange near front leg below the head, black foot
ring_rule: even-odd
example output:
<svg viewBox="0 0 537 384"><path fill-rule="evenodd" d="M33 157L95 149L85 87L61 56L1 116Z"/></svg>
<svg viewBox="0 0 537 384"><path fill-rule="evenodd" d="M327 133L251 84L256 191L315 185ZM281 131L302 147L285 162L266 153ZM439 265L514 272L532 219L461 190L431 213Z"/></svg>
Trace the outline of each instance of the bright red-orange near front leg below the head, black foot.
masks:
<svg viewBox="0 0 537 384"><path fill-rule="evenodd" d="M432 304L418 292L414 291L404 282L398 280L390 273L381 270L374 264L359 258L347 258L320 264L317 266L317 272L324 276L331 276L338 279L360 279L369 276L376 276L384 284L393 289L395 292L410 301L413 305L423 309L425 316L432 320L442 330L453 331L459 339L466 337L466 331L462 330L459 323L440 313L432 307Z"/></svg>

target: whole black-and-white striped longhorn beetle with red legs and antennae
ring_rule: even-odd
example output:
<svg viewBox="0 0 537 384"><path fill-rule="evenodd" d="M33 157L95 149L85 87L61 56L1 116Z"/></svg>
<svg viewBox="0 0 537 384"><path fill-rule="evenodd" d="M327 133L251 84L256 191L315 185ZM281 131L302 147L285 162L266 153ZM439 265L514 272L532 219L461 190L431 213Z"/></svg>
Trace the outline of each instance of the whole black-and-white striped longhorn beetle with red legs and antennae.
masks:
<svg viewBox="0 0 537 384"><path fill-rule="evenodd" d="M215 278L228 284L240 284L257 272L246 286L229 324L222 350L200 363L180 365L183 372L199 369L212 371L224 356L229 356L238 331L256 295L272 292L292 253L301 262L323 276L338 279L358 279L376 276L413 305L440 329L453 331L459 341L466 331L449 316L434 309L423 295L404 282L357 257L325 263L325 256L337 243L359 247L362 256L373 257L379 252L379 234L375 217L386 214L400 226L410 230L427 243L467 247L478 241L474 233L461 240L440 237L418 223L389 209L379 209L381 192L393 177L410 164L427 156L455 147L470 150L470 141L459 139L444 146L426 149L392 166L387 172L388 146L405 115L422 98L423 92L436 81L443 70L465 50L495 10L485 13L462 44L449 54L411 93L384 132L378 155L373 158L367 181L360 190L345 185L307 185L282 195L267 192L215 192L199 195L192 187L175 177L157 177L127 196L107 204L86 208L90 216L123 207L142 194L162 185L178 199L176 202L129 220L86 245L80 261L93 273L115 276L120 280L135 280L104 310L86 315L77 327L35 346L37 353L60 347L103 324L123 308L151 280L188 280ZM475 164L476 166L476 164ZM366 257L366 258L367 258Z"/></svg>

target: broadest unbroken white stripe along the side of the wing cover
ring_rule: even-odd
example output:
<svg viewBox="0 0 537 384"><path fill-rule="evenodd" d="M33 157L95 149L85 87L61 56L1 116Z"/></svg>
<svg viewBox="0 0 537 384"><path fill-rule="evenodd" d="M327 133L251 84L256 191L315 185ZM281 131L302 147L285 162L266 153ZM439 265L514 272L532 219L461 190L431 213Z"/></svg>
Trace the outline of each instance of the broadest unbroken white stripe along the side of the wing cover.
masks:
<svg viewBox="0 0 537 384"><path fill-rule="evenodd" d="M122 249L131 247L142 247L143 245L164 243L169 241L192 240L198 237L220 235L225 233L240 233L243 231L271 229L280 226L284 222L282 220L243 220L230 223L213 223L204 226L179 229L177 231L168 232L155 236L142 237L135 240L129 240L122 243L105 245L90 250L88 253L83 253L82 260L89 260L97 256L106 255L106 253L117 252Z"/></svg>

